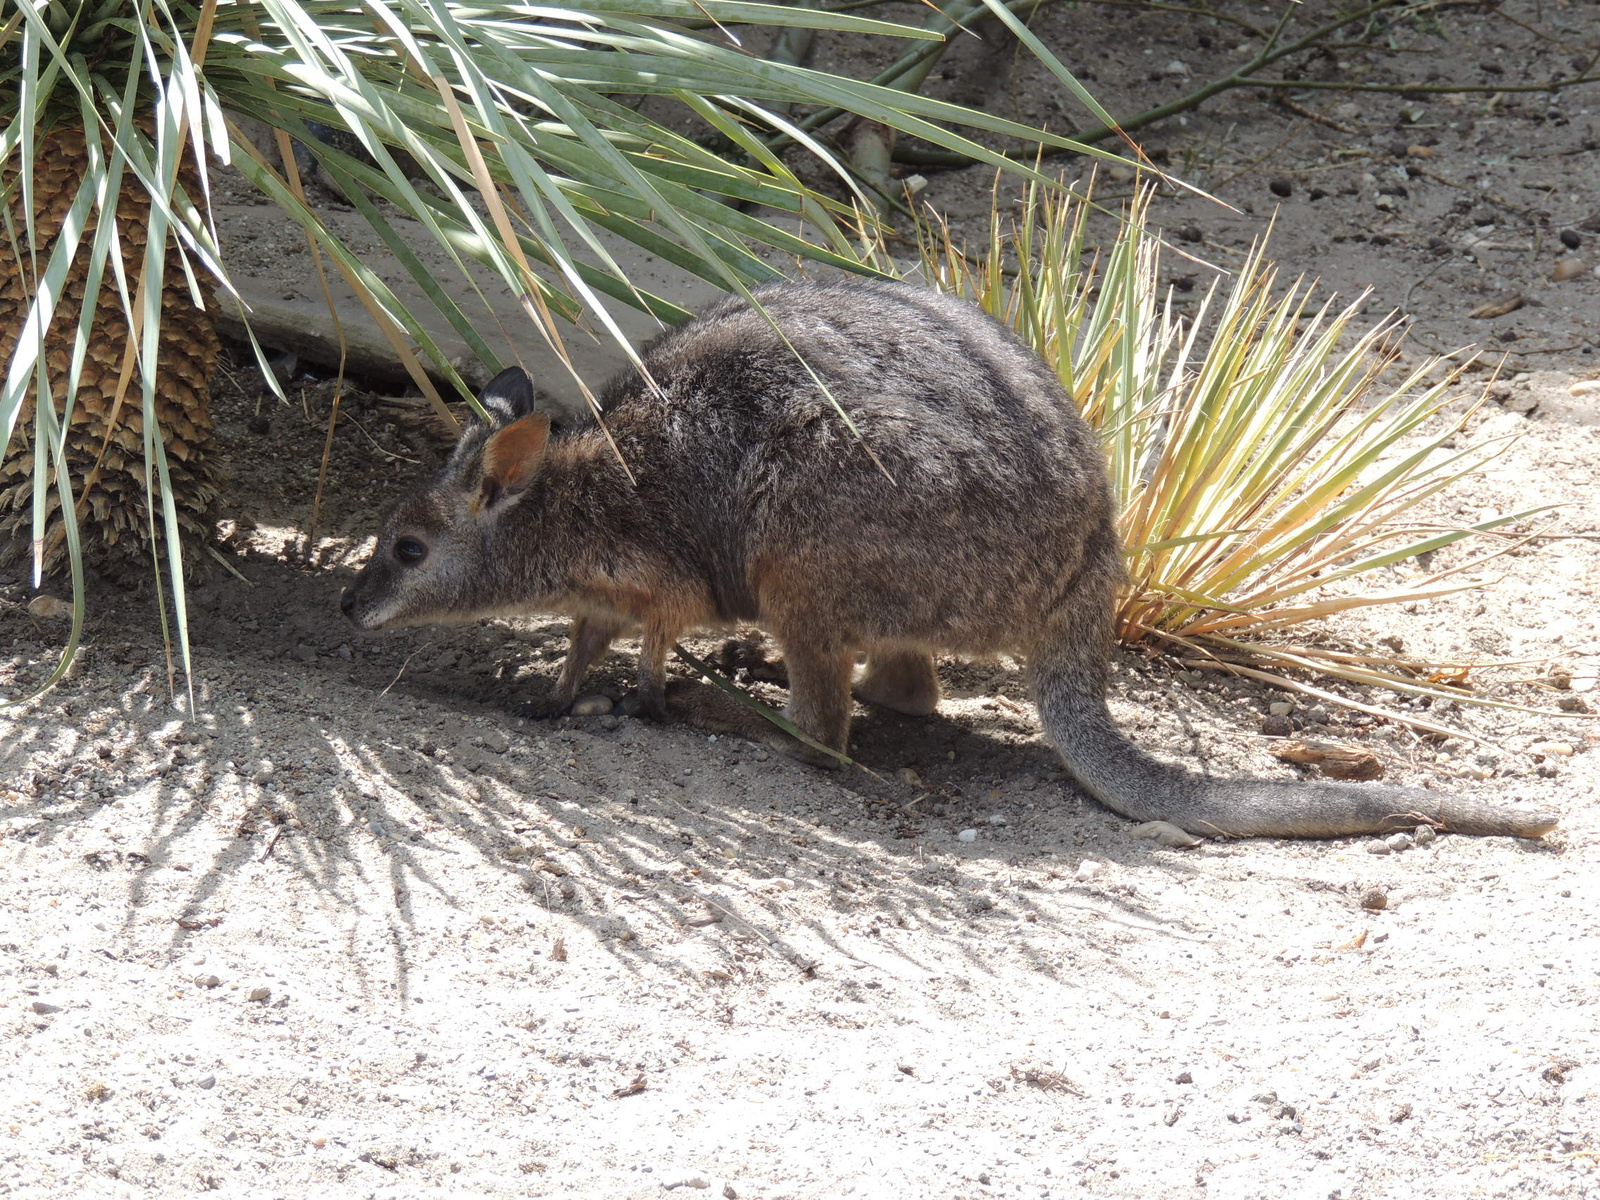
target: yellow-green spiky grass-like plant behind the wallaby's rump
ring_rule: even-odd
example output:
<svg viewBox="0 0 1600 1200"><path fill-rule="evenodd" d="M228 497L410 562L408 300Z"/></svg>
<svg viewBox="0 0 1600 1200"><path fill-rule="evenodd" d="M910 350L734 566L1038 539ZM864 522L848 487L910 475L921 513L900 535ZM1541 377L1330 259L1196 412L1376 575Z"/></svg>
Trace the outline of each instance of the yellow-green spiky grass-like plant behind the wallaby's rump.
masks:
<svg viewBox="0 0 1600 1200"><path fill-rule="evenodd" d="M1118 635L1208 662L1459 694L1429 682L1440 664L1330 651L1285 632L1477 586L1461 576L1482 558L1376 581L1539 512L1456 530L1418 517L1506 438L1458 446L1475 408L1461 398L1459 365L1434 358L1381 382L1395 363L1395 320L1362 323L1362 301L1312 306L1302 283L1277 286L1266 243L1179 318L1163 302L1149 198L1133 202L1099 254L1088 253L1088 202L1037 190L1013 222L997 211L976 256L939 227L922 238L930 277L1016 328L1099 432L1128 560Z"/></svg>

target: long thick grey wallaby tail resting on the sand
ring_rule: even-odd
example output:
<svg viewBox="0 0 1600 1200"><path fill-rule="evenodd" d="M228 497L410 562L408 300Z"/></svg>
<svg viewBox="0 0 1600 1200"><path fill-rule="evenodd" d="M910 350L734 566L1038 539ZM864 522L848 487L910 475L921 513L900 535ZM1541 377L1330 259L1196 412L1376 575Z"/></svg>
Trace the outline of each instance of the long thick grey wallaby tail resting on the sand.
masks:
<svg viewBox="0 0 1600 1200"><path fill-rule="evenodd" d="M1110 718L1098 678L1070 650L1034 656L1045 733L1074 778L1134 821L1170 821L1198 837L1342 837L1435 826L1456 834L1539 837L1557 818L1389 784L1206 779L1150 758Z"/></svg>

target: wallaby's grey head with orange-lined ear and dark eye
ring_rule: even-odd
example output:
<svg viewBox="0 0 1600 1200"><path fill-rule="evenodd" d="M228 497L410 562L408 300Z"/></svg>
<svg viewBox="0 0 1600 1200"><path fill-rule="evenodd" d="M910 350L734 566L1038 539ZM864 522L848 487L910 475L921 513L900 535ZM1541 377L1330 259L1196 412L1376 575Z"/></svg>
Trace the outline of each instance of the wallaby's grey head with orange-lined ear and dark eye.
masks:
<svg viewBox="0 0 1600 1200"><path fill-rule="evenodd" d="M438 475L400 501L339 600L360 629L474 621L515 603L494 586L496 533L539 474L550 418L520 366L501 371Z"/></svg>

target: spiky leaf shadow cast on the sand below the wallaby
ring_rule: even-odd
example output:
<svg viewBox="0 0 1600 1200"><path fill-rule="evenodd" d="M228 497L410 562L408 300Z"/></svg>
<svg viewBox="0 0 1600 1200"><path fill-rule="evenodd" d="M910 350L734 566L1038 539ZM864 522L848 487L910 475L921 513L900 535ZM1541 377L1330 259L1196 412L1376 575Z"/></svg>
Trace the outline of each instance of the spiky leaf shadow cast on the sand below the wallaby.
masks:
<svg viewBox="0 0 1600 1200"><path fill-rule="evenodd" d="M1160 853L1122 837L1120 818L1064 782L1054 752L1026 720L1030 706L1006 698L1022 694L1016 669L987 674L1000 699L963 706L976 709L971 715L862 710L854 752L878 778L840 774L738 739L626 717L517 720L506 709L549 690L558 656L536 658L536 645L509 642L507 626L357 640L336 616L338 576L259 557L245 570L253 587L218 578L194 597L197 722L178 720L163 688L136 686L117 699L74 698L80 730L35 725L0 750L0 774L29 781L32 754L51 738L82 742L74 758L90 778L96 760L110 770L131 747L150 747L144 786L155 794L152 814L122 848L131 870L128 923L152 899L146 877L170 869L174 846L198 824L227 813L232 832L210 861L189 864L173 955L222 912L230 880L269 858L334 904L358 909L374 880L352 883L370 870L363 864L374 846L394 899L402 998L416 893L462 917L482 907L440 877L440 853L477 854L546 910L589 928L624 965L662 965L654 947L715 925L730 962L776 955L802 973L814 968L816 944L850 950L816 920L805 922L802 939L813 949L790 934L797 878L827 886L838 917L861 930L1048 923L1058 917L995 878L997 845L1016 842L1032 858L1109 834L1094 846L1101 858ZM141 627L144 614L130 608L142 605L106 611L88 638L85 675L126 664L154 683L158 643L107 643L114 629L125 637ZM528 637L558 650L560 629L547 622ZM397 662L410 666L397 674ZM624 645L597 667L586 693L614 694L630 669ZM960 664L950 672L965 675ZM229 694L240 683L245 691ZM779 696L768 688L770 699ZM899 766L912 766L928 786L896 779ZM74 798L32 782L43 795L5 806L0 818L40 846L102 821L120 790ZM1019 813L1005 830L987 824L1000 808ZM939 854L936 866L883 875L885 858L922 859L930 834L949 843L947 830L965 824L992 830L997 842L986 837L970 858ZM874 853L862 858L864 848ZM163 902L170 907L171 898ZM1181 922L1133 898L1085 896L1083 907L1152 934L1189 936ZM1118 970L1115 958L1102 966Z"/></svg>

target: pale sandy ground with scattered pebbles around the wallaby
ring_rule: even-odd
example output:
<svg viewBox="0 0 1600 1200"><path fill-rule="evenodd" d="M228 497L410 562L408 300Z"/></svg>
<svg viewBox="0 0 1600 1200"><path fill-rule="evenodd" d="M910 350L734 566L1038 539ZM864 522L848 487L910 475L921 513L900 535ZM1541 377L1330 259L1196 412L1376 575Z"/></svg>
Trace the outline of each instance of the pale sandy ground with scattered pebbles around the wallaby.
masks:
<svg viewBox="0 0 1600 1200"><path fill-rule="evenodd" d="M1426 54L1328 69L1539 77L1600 46L1589 5L1506 8L1531 32L1448 10ZM1037 27L1096 48L1085 74L1118 112L1246 40L1122 8ZM1024 117L1056 102L981 50L934 83ZM1571 390L1600 280L1549 282L1600 245L1581 227L1595 99L1296 96L1347 134L1230 93L1146 138L1237 206L1158 205L1197 253L1237 254L1278 206L1290 274L1373 285L1374 312L1405 299L1426 339L1515 355L1467 437L1520 440L1435 515L1560 506L1547 536L1485 589L1325 637L1517 661L1488 694L1562 715L1437 706L1467 736L1424 738L1134 653L1114 690L1144 746L1195 770L1291 774L1262 731L1290 702L1298 731L1390 779L1549 805L1555 834L1134 840L1067 782L1010 659L941 664L936 717L861 709L885 782L614 712L517 720L554 683L563 621L357 637L338 614L378 515L437 453L416 408L346 397L307 555L331 387L299 378L275 406L235 365L216 400L227 570L189 597L192 715L152 600L109 587L69 678L0 714L0 1192L1600 1195L1600 427ZM930 179L976 219L984 173ZM1466 315L1507 293L1525 306ZM64 637L29 595L0 582L11 694ZM630 670L621 645L587 691L619 699Z"/></svg>

